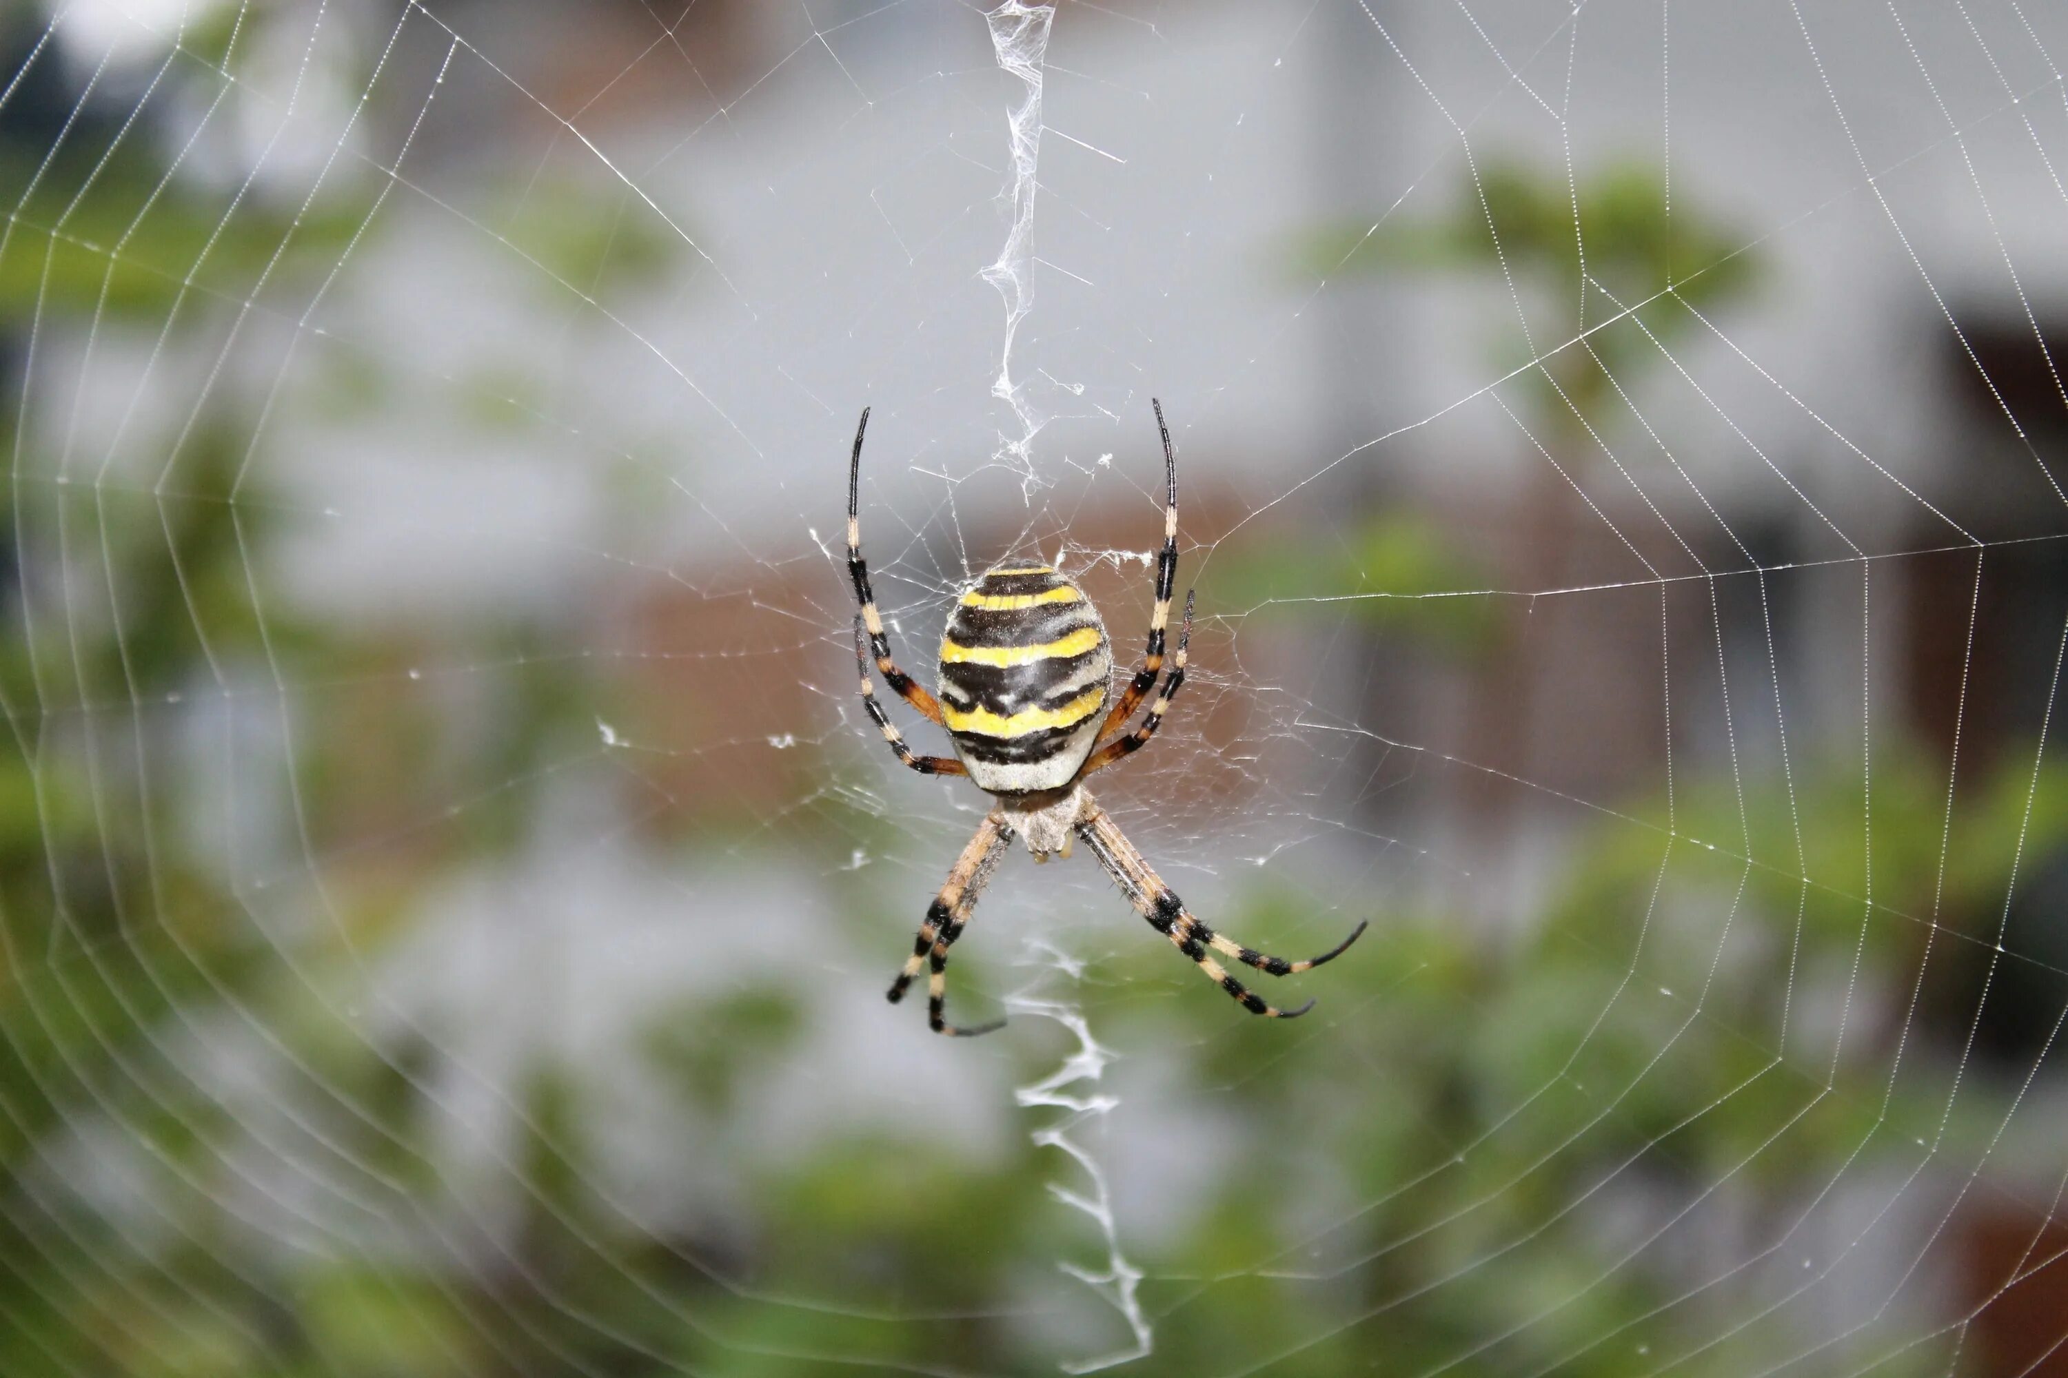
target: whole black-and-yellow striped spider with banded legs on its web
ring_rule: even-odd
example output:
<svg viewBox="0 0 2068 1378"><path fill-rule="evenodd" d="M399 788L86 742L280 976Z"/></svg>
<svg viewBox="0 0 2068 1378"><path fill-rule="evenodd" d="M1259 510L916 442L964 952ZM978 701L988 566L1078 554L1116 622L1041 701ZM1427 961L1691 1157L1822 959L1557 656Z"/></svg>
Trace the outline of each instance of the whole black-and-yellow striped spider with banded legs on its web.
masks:
<svg viewBox="0 0 2068 1378"><path fill-rule="evenodd" d="M935 1033L974 1037L1005 1023L999 1019L968 1029L947 1023L947 948L962 938L970 911L1005 859L1015 833L1026 839L1036 862L1067 857L1071 839L1082 837L1150 928L1168 938L1251 1014L1295 1019L1313 1008L1313 1000L1280 1010L1228 975L1208 957L1210 948L1257 971L1288 975L1342 957L1365 932L1365 923L1359 923L1328 952L1297 963L1216 934L1185 909L1185 901L1150 870L1113 816L1084 789L1088 775L1150 744L1179 686L1185 684L1191 591L1185 593L1185 622L1177 634L1170 674L1142 725L1127 731L1127 721L1162 674L1164 626L1170 620L1170 589L1177 583L1177 457L1170 450L1162 403L1152 399L1150 405L1156 409L1156 430L1164 446L1164 543L1156 560L1156 607L1150 612L1150 643L1142 667L1106 713L1100 709L1106 707L1113 678L1113 649L1106 643L1104 622L1077 585L1046 564L999 564L962 591L955 616L949 618L947 634L941 638L939 698L898 667L891 643L883 634L883 614L877 612L877 597L869 589L869 566L862 562L858 498L862 434L869 430L866 407L862 424L854 430L854 459L848 461L848 574L854 578L854 597L860 603L860 614L854 618L854 663L862 676L862 704L906 766L920 775L966 775L997 800L947 872L947 884L926 907L912 957L889 988L889 1000L898 1004L920 969L931 963L926 1023ZM947 729L955 746L953 756L918 756L906 746L877 702L869 676L871 655L877 674L900 698Z"/></svg>

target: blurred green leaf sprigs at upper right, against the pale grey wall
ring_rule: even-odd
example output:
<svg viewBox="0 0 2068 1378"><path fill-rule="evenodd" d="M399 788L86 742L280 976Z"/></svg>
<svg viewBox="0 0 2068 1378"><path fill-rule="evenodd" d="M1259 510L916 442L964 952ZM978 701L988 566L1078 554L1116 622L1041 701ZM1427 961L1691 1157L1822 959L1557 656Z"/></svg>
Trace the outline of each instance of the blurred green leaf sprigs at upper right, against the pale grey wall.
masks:
<svg viewBox="0 0 2068 1378"><path fill-rule="evenodd" d="M1483 159L1479 176L1427 217L1313 229L1297 262L1332 279L1448 275L1510 287L1528 333L1503 314L1493 366L1520 370L1524 426L1576 473L1599 452L1596 438L1615 434L1623 399L1700 328L1698 312L1741 302L1760 275L1741 238L1685 192L1669 215L1663 176L1650 165L1607 167L1572 188L1563 176L1503 157ZM1555 504L1563 479L1534 457L1530 469L1530 502ZM1528 545L1541 547L1532 554L1543 570L1522 572L1522 585L1551 583L1563 539ZM1452 653L1495 649L1499 618L1481 599L1448 595L1483 589L1497 570L1417 512L1375 510L1336 543L1259 531L1224 560L1216 593L1237 607L1326 603Z"/></svg>

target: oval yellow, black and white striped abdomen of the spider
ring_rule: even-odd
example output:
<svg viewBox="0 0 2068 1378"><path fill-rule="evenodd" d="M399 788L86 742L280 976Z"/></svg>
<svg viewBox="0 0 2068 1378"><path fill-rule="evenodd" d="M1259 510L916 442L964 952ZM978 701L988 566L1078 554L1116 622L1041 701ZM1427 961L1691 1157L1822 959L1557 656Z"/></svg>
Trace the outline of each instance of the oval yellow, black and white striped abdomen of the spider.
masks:
<svg viewBox="0 0 2068 1378"><path fill-rule="evenodd" d="M1106 713L1113 649L1090 599L1046 564L964 591L941 638L941 711L978 789L1061 789Z"/></svg>

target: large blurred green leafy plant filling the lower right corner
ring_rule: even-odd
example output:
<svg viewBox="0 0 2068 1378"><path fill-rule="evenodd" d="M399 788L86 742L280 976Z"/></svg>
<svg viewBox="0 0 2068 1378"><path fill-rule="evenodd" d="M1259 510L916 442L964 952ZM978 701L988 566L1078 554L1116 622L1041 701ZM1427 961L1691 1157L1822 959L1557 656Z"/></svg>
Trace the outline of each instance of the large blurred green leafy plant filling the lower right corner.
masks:
<svg viewBox="0 0 2068 1378"><path fill-rule="evenodd" d="M1799 1353L1795 1320L1826 1293L1702 1347L1731 1328L1725 1314L1814 1283L1799 1256L1828 1235L1801 1231L1770 1273L1731 1266L1830 1209L1832 1182L1983 1159L2016 1103L2016 1083L1979 1076L1950 1095L1909 994L1934 899L1936 967L1989 942L2016 845L2000 818L2023 812L2029 785L2029 766L1977 781L1942 890L1944 779L1878 760L1869 907L1857 764L1803 771L1793 795L1747 781L1743 814L1729 779L1683 781L1679 841L1603 824L1526 934L1386 915L1355 950L1383 975L1348 1002L1321 992L1299 1076L1276 1043L1228 1037L1212 1002L1181 988L1137 1000L1139 1021L1183 1023L1158 1041L1195 1043L1199 1091L1239 1101L1249 1126L1224 1190L1152 1260L1210 1281L1168 1293L1144 1372L1202 1372L1235 1351L1276 1353L1268 1372L1286 1374L1429 1372L1474 1353L1481 1368L1458 1372L1636 1376L1690 1355L1673 1372L1725 1378ZM2031 851L2068 845L2064 800L2068 775L2043 775ZM1272 892L1226 926L1272 948L1317 932ZM1152 954L1098 975L1173 979ZM1841 1037L1830 1000L1847 990ZM1704 1227L1729 1231L1729 1264L1679 1248ZM1317 1295L1332 1304L1313 1310ZM1828 1353L1845 1368L1851 1351ZM1878 1361L1925 1374L1946 1355Z"/></svg>

